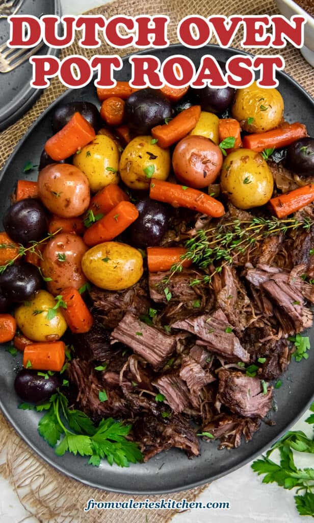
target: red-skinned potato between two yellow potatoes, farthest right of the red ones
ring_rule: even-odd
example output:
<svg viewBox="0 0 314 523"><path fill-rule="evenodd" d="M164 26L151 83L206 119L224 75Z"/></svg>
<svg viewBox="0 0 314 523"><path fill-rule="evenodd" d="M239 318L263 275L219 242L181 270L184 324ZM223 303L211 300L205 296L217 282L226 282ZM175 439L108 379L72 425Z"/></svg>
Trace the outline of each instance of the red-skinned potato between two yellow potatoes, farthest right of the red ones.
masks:
<svg viewBox="0 0 314 523"><path fill-rule="evenodd" d="M214 183L222 163L220 147L209 138L196 135L180 140L172 156L176 177L181 183L194 189L202 189Z"/></svg>

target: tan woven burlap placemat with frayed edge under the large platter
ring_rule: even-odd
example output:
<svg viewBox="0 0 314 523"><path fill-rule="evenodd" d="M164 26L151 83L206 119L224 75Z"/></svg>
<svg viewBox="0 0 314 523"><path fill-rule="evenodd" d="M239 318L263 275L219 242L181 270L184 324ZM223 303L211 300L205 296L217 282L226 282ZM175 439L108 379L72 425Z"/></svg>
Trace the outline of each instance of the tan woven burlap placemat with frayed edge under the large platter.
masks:
<svg viewBox="0 0 314 523"><path fill-rule="evenodd" d="M177 41L176 27L178 21L188 14L199 14L209 16L223 14L230 16L258 15L258 14L277 14L277 8L273 0L265 0L263 3L256 0L231 0L222 9L221 0L212 0L210 4L200 3L196 0L160 0L156 4L153 0L137 2L135 0L117 0L111 4L93 9L88 14L103 14L107 18L116 15L136 16L140 14L154 15L165 14L170 16L168 37L171 43ZM233 47L240 49L239 34L233 42ZM215 43L215 42L214 42ZM132 50L128 49L127 52ZM258 54L260 50L248 50L253 54ZM69 54L84 54L88 58L92 54L126 54L125 50L108 48L104 43L101 48L96 50L82 50L77 43L62 51L62 58ZM303 59L299 51L290 44L282 50L263 50L263 54L280 53L286 63L285 71L293 76L312 96L314 96L313 70ZM41 115L42 111L48 107L53 100L61 95L66 88L54 78L51 86L45 90L37 103L21 118L18 122L10 126L0 134L0 168L3 166L8 156L13 152L14 147L29 129L31 124ZM90 498L98 501L110 501L113 496L116 501L125 501L128 496L115 495L100 491L68 479L64 475L47 465L16 434L15 430L6 422L0 414L0 451L4 450L5 462L0 467L0 472L8 477L14 486L21 503L28 510L30 515L37 517L38 521L49 523L76 523L79 521L108 521L128 523L145 522L166 523L170 521L175 510L150 510L145 514L144 510L106 510L105 514L90 511L83 512L83 506ZM74 458L75 459L75 458ZM195 488L190 491L172 494L172 499L186 498L192 501L205 487ZM150 496L153 499L153 496ZM134 496L141 500L145 497ZM147 516L147 518L146 518Z"/></svg>

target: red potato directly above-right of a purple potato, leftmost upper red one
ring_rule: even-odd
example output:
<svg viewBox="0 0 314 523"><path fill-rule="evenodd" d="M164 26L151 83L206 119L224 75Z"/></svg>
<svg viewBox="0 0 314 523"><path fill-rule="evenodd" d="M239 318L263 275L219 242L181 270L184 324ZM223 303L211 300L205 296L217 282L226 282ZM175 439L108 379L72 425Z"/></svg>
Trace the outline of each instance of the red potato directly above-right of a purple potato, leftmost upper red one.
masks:
<svg viewBox="0 0 314 523"><path fill-rule="evenodd" d="M89 206L88 179L74 165L47 165L39 173L38 191L44 206L60 218L77 218Z"/></svg>

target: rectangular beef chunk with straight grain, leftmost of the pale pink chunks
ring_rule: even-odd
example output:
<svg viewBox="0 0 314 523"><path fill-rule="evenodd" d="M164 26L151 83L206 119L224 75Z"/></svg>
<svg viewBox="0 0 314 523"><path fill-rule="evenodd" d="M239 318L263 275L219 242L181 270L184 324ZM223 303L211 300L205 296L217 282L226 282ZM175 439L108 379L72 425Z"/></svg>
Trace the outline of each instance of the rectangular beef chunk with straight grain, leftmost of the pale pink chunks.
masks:
<svg viewBox="0 0 314 523"><path fill-rule="evenodd" d="M141 322L127 312L112 332L112 339L131 347L154 368L161 367L174 352L177 339L160 329Z"/></svg>

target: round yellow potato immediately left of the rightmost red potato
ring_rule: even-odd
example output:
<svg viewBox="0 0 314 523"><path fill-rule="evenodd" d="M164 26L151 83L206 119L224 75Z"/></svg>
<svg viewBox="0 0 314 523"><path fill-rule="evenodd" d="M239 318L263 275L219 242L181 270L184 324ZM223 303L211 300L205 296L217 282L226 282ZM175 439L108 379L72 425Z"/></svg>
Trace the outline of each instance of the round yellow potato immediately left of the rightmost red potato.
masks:
<svg viewBox="0 0 314 523"><path fill-rule="evenodd" d="M120 176L131 189L149 189L151 179L166 180L170 173L170 152L152 143L151 136L138 136L122 153Z"/></svg>

